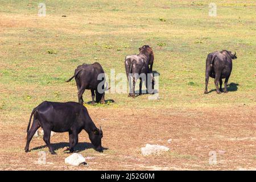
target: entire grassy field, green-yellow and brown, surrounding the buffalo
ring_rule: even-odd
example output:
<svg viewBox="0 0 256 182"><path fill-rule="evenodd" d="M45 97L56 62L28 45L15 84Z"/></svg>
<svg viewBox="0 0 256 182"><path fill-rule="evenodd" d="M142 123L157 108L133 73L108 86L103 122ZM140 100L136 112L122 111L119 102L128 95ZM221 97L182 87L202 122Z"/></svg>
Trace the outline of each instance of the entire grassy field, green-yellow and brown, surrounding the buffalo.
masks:
<svg viewBox="0 0 256 182"><path fill-rule="evenodd" d="M38 4L46 16L38 16ZM217 16L209 16L209 3ZM255 1L3 1L0 0L0 170L239 170L256 169ZM65 15L65 16L64 16ZM101 63L110 75L125 73L126 55L148 44L159 73L159 100L106 94L106 105L89 105L104 137L99 153L82 131L79 154L87 166L64 163L68 133L42 136L25 153L32 109L44 100L77 101L77 65ZM209 52L237 52L228 93L216 94L210 78L204 94ZM118 81L117 81L118 82ZM86 102L90 91L84 93ZM170 140L171 139L171 140ZM168 142L169 141L169 142ZM143 156L146 143L170 151ZM37 164L46 151L46 164ZM216 164L209 164L209 152Z"/></svg>

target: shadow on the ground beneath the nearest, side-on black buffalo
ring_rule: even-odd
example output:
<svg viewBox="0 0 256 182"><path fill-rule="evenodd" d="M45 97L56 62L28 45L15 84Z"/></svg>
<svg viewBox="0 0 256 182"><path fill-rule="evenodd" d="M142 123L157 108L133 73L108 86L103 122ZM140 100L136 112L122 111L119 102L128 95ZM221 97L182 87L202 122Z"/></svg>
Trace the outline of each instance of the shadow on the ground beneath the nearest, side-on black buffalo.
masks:
<svg viewBox="0 0 256 182"><path fill-rule="evenodd" d="M46 145L35 147L35 148L32 148L31 151L39 150L41 148L46 148L46 147L47 147ZM69 143L68 142L52 143L52 147L53 147L53 150L59 150L60 148L63 148L64 150L64 147L69 147ZM77 145L74 147L74 150L75 150L74 152L81 152L89 148L94 148L92 143L88 143L88 142L77 143ZM103 148L103 151L108 150L108 148L105 148L105 147L102 147L102 148Z"/></svg>

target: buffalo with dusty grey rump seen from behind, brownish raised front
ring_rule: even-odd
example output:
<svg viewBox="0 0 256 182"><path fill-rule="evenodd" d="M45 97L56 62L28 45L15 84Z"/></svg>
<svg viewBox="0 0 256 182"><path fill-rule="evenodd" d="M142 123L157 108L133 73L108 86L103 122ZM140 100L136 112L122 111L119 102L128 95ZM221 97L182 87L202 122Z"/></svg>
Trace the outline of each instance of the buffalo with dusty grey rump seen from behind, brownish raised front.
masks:
<svg viewBox="0 0 256 182"><path fill-rule="evenodd" d="M152 85L154 89L154 78L152 76L152 65L154 61L154 54L152 48L145 45L139 48L138 55L130 55L125 57L125 70L127 79L129 81L130 74L133 77L133 86L130 90L129 97L135 97L135 83L140 79L139 83L139 94L142 94L142 82L146 81L146 88L148 90L148 83ZM151 68L148 67L151 65ZM150 81L148 81L148 76L150 76ZM146 79L144 79L146 78ZM151 91L152 92L152 91Z"/></svg>

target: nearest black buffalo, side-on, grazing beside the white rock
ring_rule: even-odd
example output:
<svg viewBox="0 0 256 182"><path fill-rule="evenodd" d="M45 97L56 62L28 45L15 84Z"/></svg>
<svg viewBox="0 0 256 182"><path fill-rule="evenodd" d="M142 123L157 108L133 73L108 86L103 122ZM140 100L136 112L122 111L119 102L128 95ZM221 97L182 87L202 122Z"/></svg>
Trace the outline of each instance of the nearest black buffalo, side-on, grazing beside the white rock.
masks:
<svg viewBox="0 0 256 182"><path fill-rule="evenodd" d="M32 115L34 115L34 119L30 129ZM96 150L102 151L101 138L103 135L101 128L97 129L87 109L77 102L44 101L35 107L28 122L26 152L28 152L30 141L39 127L43 128L43 139L51 154L56 154L50 143L51 131L56 133L68 132L70 146L67 150L73 152L73 148L79 140L78 134L83 129L88 133L89 139Z"/></svg>

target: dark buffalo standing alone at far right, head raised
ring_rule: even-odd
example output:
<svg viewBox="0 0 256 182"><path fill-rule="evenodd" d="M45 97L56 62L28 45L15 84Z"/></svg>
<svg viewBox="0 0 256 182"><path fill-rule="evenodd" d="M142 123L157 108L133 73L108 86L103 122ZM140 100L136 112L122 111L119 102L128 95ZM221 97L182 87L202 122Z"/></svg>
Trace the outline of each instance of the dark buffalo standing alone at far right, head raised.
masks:
<svg viewBox="0 0 256 182"><path fill-rule="evenodd" d="M222 78L225 78L224 92L227 92L227 84L232 71L232 59L237 59L236 52L233 54L231 51L216 51L209 53L206 60L205 69L205 91L207 94L207 86L209 77L214 78L214 84L216 86L216 92L218 94L222 91ZM218 88L218 82L220 81L220 89Z"/></svg>

